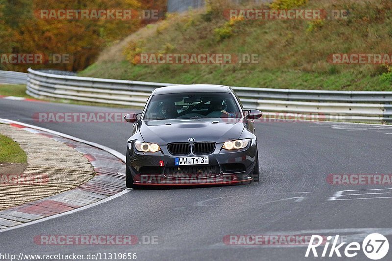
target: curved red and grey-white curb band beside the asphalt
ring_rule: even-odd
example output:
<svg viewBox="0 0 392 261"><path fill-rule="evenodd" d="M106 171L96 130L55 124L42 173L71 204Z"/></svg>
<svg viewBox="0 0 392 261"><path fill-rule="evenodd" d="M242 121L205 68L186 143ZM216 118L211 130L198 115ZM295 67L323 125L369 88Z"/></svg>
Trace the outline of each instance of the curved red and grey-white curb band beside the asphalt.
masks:
<svg viewBox="0 0 392 261"><path fill-rule="evenodd" d="M73 147L90 161L96 172L91 180L72 190L0 211L1 232L15 226L20 227L30 224L28 222L40 221L48 217L55 217L59 214L97 205L105 199L107 201L114 195L119 195L122 191L120 194L130 191L125 190L124 155L96 143L83 141L40 127L7 119L0 119L0 123L23 128L38 135L45 135Z"/></svg>

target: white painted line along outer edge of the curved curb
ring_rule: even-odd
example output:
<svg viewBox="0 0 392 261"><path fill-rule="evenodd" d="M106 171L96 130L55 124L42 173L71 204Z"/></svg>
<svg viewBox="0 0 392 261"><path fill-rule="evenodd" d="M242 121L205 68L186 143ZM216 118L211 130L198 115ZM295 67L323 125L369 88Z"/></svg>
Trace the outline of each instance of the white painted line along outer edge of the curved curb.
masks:
<svg viewBox="0 0 392 261"><path fill-rule="evenodd" d="M109 152L113 156L121 159L124 162L126 160L126 156L121 154L118 151L115 151L115 150L113 150L111 148L108 148L106 146L103 146L103 145L100 145L100 144L97 144L97 143L94 143L94 142L89 142L89 141L85 141L85 140L73 137L71 135L67 135L67 134L64 134L64 133L57 132L57 131L52 131L52 130L49 130L49 129L45 129L45 128L41 128L41 127L37 127L37 126L21 123L21 122L18 122L18 121L14 121L14 120L9 120L9 119L2 119L2 118L0 118L0 123L18 124L18 125L25 126L25 127L28 127L28 128L37 129L37 130L41 130L41 131L46 131L48 133L52 133L52 134L55 134L55 135L58 135L58 136L61 136L61 137L64 137L64 138L68 138L68 139L77 141L77 142L88 144L88 145L90 145L92 147L96 147L96 148L102 149L104 151ZM132 191L132 189L125 189L125 190L123 190L123 191L121 191L121 192L119 192L117 194L114 194L113 196L107 197L105 199L102 199L102 200L100 200L98 202L95 202L93 204L90 204L90 205L86 205L86 206L83 206L83 207L80 207L80 208L77 208L77 209L74 209L74 210L71 210L71 211L63 212L63 213L60 213L60 214L55 214L55 215L52 215L52 216L44 217L44 218L41 218L41 219L38 219L38 220L35 220L35 221L27 222L27 223L22 224L22 225L17 225L17 226L1 229L0 233L6 232L6 231L10 231L10 230L14 230L14 229L18 229L18 228L22 228L22 227L25 227L25 226L34 225L34 224L37 224L37 223L40 223L40 222L44 222L44 221L47 221L47 220L50 220L50 219L53 219L53 218L58 218L58 217L62 217L62 216L65 216L65 215L73 214L73 213L78 212L78 211L86 210L86 209L95 207L97 205L103 204L105 202L108 202L110 200L113 200L115 198L121 197L122 195L124 195L126 193L129 193L130 191Z"/></svg>

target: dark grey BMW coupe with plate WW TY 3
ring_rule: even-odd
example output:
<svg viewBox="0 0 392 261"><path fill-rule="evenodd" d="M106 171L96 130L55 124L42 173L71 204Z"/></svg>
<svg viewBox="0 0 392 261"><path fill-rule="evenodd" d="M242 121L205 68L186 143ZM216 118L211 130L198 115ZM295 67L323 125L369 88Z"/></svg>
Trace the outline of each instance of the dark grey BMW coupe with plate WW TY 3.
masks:
<svg viewBox="0 0 392 261"><path fill-rule="evenodd" d="M227 86L155 89L134 123L126 152L126 186L207 185L259 180L254 119Z"/></svg>

